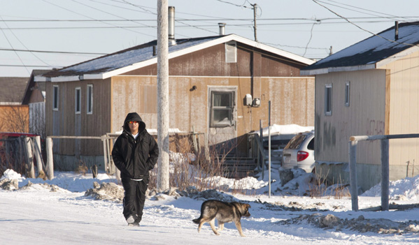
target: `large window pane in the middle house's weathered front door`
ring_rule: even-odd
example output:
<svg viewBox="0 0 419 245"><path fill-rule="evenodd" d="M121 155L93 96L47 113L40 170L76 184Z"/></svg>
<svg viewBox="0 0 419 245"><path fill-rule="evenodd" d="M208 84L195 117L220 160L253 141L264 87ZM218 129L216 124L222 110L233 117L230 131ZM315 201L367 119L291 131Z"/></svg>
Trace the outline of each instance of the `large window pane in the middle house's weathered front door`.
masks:
<svg viewBox="0 0 419 245"><path fill-rule="evenodd" d="M211 127L233 125L233 91L211 91Z"/></svg>

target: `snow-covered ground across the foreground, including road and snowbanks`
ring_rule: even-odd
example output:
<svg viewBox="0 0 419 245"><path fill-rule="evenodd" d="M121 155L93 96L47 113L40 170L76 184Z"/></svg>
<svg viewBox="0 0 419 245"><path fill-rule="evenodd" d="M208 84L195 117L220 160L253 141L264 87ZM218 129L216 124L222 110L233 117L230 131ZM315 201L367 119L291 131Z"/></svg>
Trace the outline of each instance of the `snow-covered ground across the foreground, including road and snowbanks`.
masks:
<svg viewBox="0 0 419 245"><path fill-rule="evenodd" d="M272 172L278 177L278 170ZM122 216L122 191L115 179L96 179L74 172L56 172L55 179L25 179L7 170L0 180L0 244L418 244L419 208L390 211L351 211L349 197L304 196L311 174L297 175L285 186L275 181L271 198L267 179L248 177L252 195L229 192L150 192L141 226L128 227ZM265 174L265 177L268 175ZM7 187L16 179L18 188ZM94 188L94 182L101 187ZM220 177L220 186L234 181ZM108 196L104 187L114 188ZM9 190L5 190L10 189ZM116 189L116 191L115 191ZM96 190L96 191L92 191ZM392 181L390 202L412 205L419 201L419 176ZM88 193L88 195L85 195ZM96 195L94 195L96 193ZM170 194L170 195L168 195ZM379 186L360 196L360 209L381 204ZM100 197L100 198L99 198ZM201 232L193 218L206 198L251 205L242 218L240 237L233 223L214 235L206 223Z"/></svg>

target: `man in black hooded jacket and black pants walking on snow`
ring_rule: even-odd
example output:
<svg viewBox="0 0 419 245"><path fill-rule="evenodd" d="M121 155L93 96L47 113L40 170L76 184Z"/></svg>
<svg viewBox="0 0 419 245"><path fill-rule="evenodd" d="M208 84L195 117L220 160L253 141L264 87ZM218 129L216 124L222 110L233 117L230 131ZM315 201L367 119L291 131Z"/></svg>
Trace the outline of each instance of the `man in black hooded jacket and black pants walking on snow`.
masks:
<svg viewBox="0 0 419 245"><path fill-rule="evenodd" d="M148 172L157 163L159 148L136 112L127 114L122 128L122 134L113 146L112 158L121 172L125 190L122 214L128 225L139 226L150 177Z"/></svg>

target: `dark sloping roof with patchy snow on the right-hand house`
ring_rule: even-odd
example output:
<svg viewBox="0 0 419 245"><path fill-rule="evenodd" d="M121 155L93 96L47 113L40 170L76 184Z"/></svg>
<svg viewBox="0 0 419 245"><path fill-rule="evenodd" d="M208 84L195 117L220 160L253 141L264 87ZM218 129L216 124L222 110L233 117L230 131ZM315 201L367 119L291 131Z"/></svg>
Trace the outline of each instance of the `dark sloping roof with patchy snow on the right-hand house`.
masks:
<svg viewBox="0 0 419 245"><path fill-rule="evenodd" d="M379 34L355 43L350 47L336 52L315 64L301 68L302 75L309 75L308 70L328 68L360 67L376 68L379 61L388 59L395 54L416 48L419 44L419 22L399 24L399 38L395 40L395 27L390 27ZM413 50L414 51L414 50ZM412 52L413 52L412 51ZM329 69L330 70L330 69ZM334 69L339 70L339 69ZM341 69L342 70L342 69Z"/></svg>

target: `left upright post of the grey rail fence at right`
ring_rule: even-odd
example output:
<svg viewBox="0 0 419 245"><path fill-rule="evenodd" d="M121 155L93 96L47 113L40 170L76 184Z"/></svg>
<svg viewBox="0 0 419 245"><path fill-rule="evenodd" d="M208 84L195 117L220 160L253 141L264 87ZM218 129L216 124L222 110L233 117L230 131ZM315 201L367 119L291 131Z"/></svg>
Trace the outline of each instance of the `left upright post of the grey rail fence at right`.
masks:
<svg viewBox="0 0 419 245"><path fill-rule="evenodd" d="M357 181L357 141L349 142L349 177L350 177L350 199L352 210L358 211L358 181Z"/></svg>

